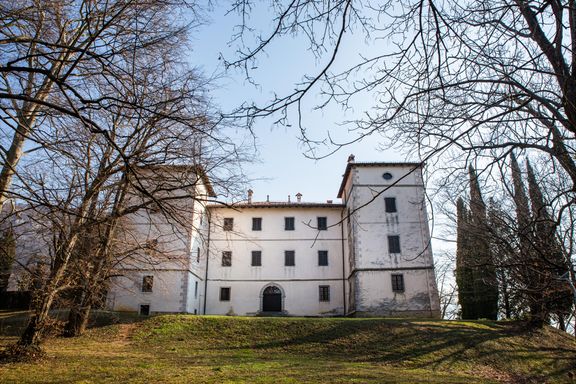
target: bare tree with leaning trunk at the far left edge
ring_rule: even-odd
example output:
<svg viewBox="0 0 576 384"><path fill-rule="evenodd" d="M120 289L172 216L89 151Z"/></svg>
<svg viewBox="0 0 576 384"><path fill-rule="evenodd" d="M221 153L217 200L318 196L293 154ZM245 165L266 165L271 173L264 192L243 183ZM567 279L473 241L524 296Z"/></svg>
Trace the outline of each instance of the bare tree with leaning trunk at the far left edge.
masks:
<svg viewBox="0 0 576 384"><path fill-rule="evenodd" d="M19 0L0 4L0 206L25 155L43 145L49 120L114 144L93 110L150 112L154 102L122 91L179 60L198 8L186 1ZM186 13L188 19L178 17ZM165 49L172 47L173 49ZM143 74L144 73L144 74ZM106 83L116 91L95 92ZM117 151L122 148L116 146Z"/></svg>

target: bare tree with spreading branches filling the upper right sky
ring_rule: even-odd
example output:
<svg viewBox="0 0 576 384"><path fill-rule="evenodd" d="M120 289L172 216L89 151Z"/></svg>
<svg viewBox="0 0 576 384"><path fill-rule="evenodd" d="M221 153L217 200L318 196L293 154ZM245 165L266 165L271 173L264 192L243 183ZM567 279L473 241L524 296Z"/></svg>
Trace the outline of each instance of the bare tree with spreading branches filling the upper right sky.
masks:
<svg viewBox="0 0 576 384"><path fill-rule="evenodd" d="M233 9L248 16L253 3L239 0ZM313 99L308 94L321 96L319 108L372 96L375 105L350 122L360 137L401 138L421 157L448 147L490 157L533 149L554 158L576 183L570 1L275 1L272 9L269 31L242 25L236 41L245 45L228 66L250 74L271 44L294 34L324 65L294 91L239 112L290 116ZM368 53L350 57L358 35ZM342 62L349 64L342 69Z"/></svg>

